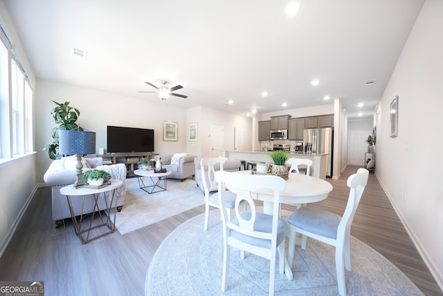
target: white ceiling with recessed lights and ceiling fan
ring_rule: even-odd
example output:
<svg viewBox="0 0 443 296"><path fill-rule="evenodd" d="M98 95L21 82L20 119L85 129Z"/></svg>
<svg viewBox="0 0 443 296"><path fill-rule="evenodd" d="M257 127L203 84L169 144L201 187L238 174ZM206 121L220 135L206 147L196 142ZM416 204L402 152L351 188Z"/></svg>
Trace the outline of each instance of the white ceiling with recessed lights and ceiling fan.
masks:
<svg viewBox="0 0 443 296"><path fill-rule="evenodd" d="M188 98L167 105L238 114L329 95L350 119L370 117L424 0L300 0L294 17L288 2L5 0L37 78L153 102L144 81L168 80Z"/></svg>

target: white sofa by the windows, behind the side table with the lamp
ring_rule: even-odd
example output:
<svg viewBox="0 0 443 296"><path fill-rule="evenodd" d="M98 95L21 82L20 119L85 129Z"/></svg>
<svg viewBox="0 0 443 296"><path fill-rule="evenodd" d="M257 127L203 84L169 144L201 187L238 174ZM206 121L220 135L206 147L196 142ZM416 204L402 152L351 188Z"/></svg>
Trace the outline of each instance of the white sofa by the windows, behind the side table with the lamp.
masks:
<svg viewBox="0 0 443 296"><path fill-rule="evenodd" d="M60 194L60 189L63 186L73 184L77 177L77 171L75 170L76 164L75 157L62 157L62 159L55 159L48 170L44 174L44 182L52 187L52 208L53 208L53 220L55 225L62 225L63 219L71 218L71 212L69 211L66 195ZM98 168L103 171L107 171L111 174L112 179L118 179L123 181L123 186L117 191L117 210L121 211L123 204L125 203L126 192L126 173L127 168L125 164L112 164L110 166L103 165L102 157L83 158L83 170L91 168ZM71 198L73 204L73 210L75 216L80 215L82 207L82 197L78 196ZM87 196L84 200L83 214L91 213L93 211L94 200L92 196ZM100 209L105 209L105 200L99 198L98 206Z"/></svg>

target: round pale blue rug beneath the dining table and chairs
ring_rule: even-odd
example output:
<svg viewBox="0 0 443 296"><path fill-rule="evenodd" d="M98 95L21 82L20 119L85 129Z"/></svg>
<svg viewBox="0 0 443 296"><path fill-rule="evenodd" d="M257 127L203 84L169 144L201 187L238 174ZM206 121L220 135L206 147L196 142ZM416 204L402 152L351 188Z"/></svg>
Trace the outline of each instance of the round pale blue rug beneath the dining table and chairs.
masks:
<svg viewBox="0 0 443 296"><path fill-rule="evenodd" d="M238 250L231 255L228 290L221 292L219 211L211 211L207 232L203 223L201 214L165 238L147 270L145 295L268 295L269 261L253 254L241 260ZM395 265L354 237L351 256L347 295L423 295ZM275 295L338 295L334 247L308 238L306 250L296 247L292 271L292 281L275 274Z"/></svg>

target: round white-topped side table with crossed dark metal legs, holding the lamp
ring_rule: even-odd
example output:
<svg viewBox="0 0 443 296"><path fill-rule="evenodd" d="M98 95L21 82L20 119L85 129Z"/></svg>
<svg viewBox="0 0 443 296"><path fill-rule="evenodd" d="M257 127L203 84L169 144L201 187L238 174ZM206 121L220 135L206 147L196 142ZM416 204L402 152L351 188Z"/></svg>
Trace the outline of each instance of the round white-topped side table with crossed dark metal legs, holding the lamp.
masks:
<svg viewBox="0 0 443 296"><path fill-rule="evenodd" d="M122 180L111 180L111 184L107 185L105 187L102 187L100 189L91 189L91 188L85 188L81 187L78 189L73 188L72 185L64 186L62 189L60 189L60 193L63 195L66 195L66 198L68 200L69 204L69 211L71 211L71 218L74 225L75 234L80 238L80 241L82 243L88 243L89 241L92 241L93 239L100 238L102 236L105 236L107 234L111 234L116 231L116 214L117 210L115 209L117 206L117 198L116 198L116 189L118 189L120 186L122 186L123 181ZM100 194L102 193L102 194ZM77 220L75 218L75 213L72 207L71 203L71 197L73 196L81 196L83 195L82 200L82 211L80 212L80 220ZM84 199L87 198L87 195L93 195L94 198L94 207L92 211L91 220L89 221L89 227L82 229L82 221L83 221L83 206L84 206ZM106 210L107 210L107 218L104 220L102 217L102 214L100 211L104 209L100 209L98 207L98 198L102 195L102 198L105 200L106 204ZM108 202L107 195L111 195L111 202ZM114 202L115 200L115 202ZM111 209L113 208L114 204L114 221L111 221ZM100 217L100 223L98 225L93 225L94 215L98 212L98 216ZM96 229L102 226L106 226L109 228L108 232L98 234L93 237L89 237L89 234L91 234L92 229ZM86 237L83 237L82 234L86 234Z"/></svg>

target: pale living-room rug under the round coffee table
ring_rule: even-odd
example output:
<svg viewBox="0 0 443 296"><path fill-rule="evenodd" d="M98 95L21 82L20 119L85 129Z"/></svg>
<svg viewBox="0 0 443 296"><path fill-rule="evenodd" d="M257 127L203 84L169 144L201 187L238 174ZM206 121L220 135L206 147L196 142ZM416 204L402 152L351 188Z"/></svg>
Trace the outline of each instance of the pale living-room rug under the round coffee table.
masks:
<svg viewBox="0 0 443 296"><path fill-rule="evenodd" d="M145 177L145 184L149 182L149 177ZM167 191L149 194L140 189L138 178L126 180L125 205L116 217L116 227L120 234L133 232L205 204L203 191L197 187L195 180L181 182L168 179L167 184Z"/></svg>

